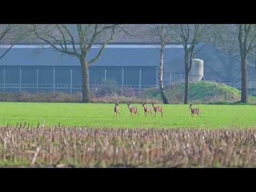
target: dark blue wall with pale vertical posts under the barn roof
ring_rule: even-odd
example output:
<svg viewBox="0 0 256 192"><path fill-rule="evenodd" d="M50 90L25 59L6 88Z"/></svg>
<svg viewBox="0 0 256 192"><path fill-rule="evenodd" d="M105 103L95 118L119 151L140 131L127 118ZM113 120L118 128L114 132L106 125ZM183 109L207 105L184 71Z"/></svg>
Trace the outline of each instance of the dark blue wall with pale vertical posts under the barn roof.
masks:
<svg viewBox="0 0 256 192"><path fill-rule="evenodd" d="M100 85L105 80L122 85L141 87L155 86L156 67L98 67L91 66L90 85ZM140 72L141 71L141 72ZM141 86L139 84L141 83ZM81 67L51 66L1 66L1 92L77 92L81 91Z"/></svg>

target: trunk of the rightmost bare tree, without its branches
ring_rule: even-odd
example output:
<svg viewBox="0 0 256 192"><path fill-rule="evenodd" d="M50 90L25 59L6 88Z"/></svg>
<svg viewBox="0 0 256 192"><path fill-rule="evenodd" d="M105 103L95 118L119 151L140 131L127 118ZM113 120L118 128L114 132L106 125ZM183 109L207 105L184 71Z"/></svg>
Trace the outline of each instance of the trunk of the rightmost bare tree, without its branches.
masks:
<svg viewBox="0 0 256 192"><path fill-rule="evenodd" d="M242 94L241 94L241 102L245 103L248 101L248 93L247 93L247 54L243 53L243 57L241 59L241 75L242 75Z"/></svg>

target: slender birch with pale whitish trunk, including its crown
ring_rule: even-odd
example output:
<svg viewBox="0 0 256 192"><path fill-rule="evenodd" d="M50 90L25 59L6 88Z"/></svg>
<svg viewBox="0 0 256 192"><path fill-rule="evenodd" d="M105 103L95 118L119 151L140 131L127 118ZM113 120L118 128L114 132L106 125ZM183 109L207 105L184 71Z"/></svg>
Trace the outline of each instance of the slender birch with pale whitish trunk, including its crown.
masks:
<svg viewBox="0 0 256 192"><path fill-rule="evenodd" d="M150 27L150 36L158 38L160 42L160 57L159 57L159 76L158 76L158 86L159 86L159 92L161 93L161 97L163 100L163 103L167 104L169 103L165 91L164 91L164 85L163 85L163 65L164 65L164 50L167 43L170 43L171 41L171 35L172 35L172 27L167 24L154 24L149 25Z"/></svg>

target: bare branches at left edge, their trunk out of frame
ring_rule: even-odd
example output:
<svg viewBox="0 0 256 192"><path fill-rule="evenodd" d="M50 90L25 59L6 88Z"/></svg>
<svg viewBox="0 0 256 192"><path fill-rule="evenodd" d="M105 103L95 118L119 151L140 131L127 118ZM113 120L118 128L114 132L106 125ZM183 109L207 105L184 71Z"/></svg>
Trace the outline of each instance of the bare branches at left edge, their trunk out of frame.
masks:
<svg viewBox="0 0 256 192"><path fill-rule="evenodd" d="M0 43L9 44L7 49L0 52L0 59L2 59L12 47L26 39L30 35L29 31L26 30L25 25L18 24L6 24L0 25Z"/></svg>

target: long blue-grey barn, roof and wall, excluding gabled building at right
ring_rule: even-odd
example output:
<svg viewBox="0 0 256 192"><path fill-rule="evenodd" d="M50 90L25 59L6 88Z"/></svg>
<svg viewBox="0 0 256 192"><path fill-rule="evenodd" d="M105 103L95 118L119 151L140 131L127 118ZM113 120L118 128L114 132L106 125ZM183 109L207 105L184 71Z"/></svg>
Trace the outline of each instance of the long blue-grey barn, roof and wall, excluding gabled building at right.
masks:
<svg viewBox="0 0 256 192"><path fill-rule="evenodd" d="M0 50L5 51L7 45ZM99 51L94 45L89 60ZM167 45L165 59L182 54L181 45ZM159 46L157 44L109 44L99 60L89 68L90 86L114 81L121 87L143 89L158 84ZM81 66L76 57L61 54L42 45L15 45L0 60L0 91L42 92L81 91Z"/></svg>

